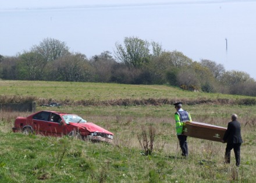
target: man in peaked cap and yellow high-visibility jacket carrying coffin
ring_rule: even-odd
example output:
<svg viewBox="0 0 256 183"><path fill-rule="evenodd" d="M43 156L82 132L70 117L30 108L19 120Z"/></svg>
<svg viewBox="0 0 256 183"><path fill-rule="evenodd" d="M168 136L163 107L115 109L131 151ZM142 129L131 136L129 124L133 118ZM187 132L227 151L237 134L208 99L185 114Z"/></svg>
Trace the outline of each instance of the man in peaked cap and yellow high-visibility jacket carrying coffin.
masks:
<svg viewBox="0 0 256 183"><path fill-rule="evenodd" d="M183 135L183 125L186 121L192 121L190 113L182 109L182 102L177 102L174 104L176 113L175 113L175 127L177 138L179 139L180 148L182 149L182 156L189 155L189 148L187 146L187 136Z"/></svg>

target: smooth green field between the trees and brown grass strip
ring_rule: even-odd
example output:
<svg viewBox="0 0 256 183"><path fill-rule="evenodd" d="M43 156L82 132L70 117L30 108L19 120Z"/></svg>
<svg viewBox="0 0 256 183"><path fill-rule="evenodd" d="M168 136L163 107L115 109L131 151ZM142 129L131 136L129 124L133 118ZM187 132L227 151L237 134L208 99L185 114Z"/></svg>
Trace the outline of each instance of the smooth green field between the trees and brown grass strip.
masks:
<svg viewBox="0 0 256 183"><path fill-rule="evenodd" d="M91 82L53 82L53 81L2 81L1 95L31 95L38 98L71 99L80 101L94 99L197 99L197 98L250 98L223 94L206 94L203 92L183 91L166 85L125 85Z"/></svg>

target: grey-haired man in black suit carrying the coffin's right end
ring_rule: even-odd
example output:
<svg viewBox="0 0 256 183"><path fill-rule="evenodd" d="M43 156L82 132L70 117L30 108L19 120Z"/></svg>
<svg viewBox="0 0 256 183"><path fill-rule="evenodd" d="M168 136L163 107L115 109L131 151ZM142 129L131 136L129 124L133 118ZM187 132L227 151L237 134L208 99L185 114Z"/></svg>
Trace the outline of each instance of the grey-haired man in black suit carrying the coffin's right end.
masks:
<svg viewBox="0 0 256 183"><path fill-rule="evenodd" d="M225 162L230 163L230 151L234 149L234 156L236 157L236 166L240 165L240 146L243 143L241 138L241 124L237 121L237 115L232 114L232 121L227 125L227 130L224 134L222 142L227 142L225 152Z"/></svg>

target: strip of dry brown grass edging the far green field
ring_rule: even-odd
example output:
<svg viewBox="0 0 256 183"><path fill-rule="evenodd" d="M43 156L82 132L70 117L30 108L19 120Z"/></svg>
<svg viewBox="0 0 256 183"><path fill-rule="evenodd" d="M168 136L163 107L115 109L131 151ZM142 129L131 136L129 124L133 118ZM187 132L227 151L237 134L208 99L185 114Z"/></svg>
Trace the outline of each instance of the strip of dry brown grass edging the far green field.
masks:
<svg viewBox="0 0 256 183"><path fill-rule="evenodd" d="M44 105L51 102L61 103L65 106L162 106L173 105L177 101L182 101L184 105L255 105L256 99L254 98L240 98L240 99L225 99L225 98L119 98L109 100L98 99L53 99L53 98L38 98L30 95L0 95L0 103L22 103L22 102L37 102L38 105Z"/></svg>

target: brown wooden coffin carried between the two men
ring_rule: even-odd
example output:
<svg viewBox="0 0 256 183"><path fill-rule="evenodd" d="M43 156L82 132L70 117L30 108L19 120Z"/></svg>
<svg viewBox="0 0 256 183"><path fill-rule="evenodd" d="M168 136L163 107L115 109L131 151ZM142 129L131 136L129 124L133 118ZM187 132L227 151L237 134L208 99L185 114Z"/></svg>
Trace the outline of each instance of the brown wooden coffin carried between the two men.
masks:
<svg viewBox="0 0 256 183"><path fill-rule="evenodd" d="M183 126L183 135L188 137L222 142L227 128L200 122L186 122Z"/></svg>

